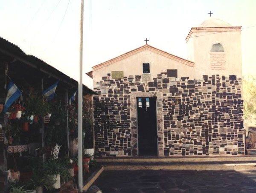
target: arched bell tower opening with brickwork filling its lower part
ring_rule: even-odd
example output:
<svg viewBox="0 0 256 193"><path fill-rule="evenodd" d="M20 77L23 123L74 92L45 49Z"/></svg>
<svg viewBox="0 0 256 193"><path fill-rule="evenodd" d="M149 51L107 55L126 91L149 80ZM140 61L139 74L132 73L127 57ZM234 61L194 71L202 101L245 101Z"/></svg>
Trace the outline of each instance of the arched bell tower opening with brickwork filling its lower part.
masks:
<svg viewBox="0 0 256 193"><path fill-rule="evenodd" d="M221 43L214 43L210 52L212 70L224 70L226 68L226 55Z"/></svg>

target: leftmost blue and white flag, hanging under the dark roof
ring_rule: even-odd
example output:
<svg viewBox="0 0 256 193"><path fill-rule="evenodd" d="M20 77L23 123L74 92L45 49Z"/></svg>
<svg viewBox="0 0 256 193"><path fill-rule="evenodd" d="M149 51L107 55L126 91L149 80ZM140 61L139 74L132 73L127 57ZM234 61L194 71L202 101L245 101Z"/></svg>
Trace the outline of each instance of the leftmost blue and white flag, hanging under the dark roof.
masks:
<svg viewBox="0 0 256 193"><path fill-rule="evenodd" d="M6 102L4 104L3 112L6 112L7 109L12 105L14 101L16 101L17 98L19 98L21 95L20 89L12 82L10 79L9 86L8 86L8 92L6 96Z"/></svg>

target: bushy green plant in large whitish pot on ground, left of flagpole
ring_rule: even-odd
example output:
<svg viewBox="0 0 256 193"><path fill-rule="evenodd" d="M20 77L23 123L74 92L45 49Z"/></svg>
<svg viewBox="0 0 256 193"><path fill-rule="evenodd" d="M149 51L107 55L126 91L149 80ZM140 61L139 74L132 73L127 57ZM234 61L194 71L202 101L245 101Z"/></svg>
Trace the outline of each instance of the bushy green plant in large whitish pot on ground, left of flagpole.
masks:
<svg viewBox="0 0 256 193"><path fill-rule="evenodd" d="M52 185L54 189L59 189L61 187L61 177L65 179L70 176L65 163L56 159L45 162L44 172L55 181Z"/></svg>

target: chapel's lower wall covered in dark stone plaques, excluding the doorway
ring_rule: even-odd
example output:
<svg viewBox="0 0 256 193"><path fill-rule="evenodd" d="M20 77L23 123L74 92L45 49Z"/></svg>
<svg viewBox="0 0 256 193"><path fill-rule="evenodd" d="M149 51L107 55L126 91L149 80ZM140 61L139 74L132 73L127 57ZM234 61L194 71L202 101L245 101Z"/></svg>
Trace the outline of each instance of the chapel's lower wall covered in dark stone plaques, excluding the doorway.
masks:
<svg viewBox="0 0 256 193"><path fill-rule="evenodd" d="M109 73L108 73L109 75ZM137 155L136 97L157 97L159 156L244 154L241 78L102 77L94 96L96 156Z"/></svg>

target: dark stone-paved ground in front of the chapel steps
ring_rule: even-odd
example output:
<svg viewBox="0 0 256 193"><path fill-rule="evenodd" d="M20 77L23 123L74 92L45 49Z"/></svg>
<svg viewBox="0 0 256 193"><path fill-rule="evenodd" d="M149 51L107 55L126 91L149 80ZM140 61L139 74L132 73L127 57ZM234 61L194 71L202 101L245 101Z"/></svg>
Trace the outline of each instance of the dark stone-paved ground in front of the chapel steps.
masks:
<svg viewBox="0 0 256 193"><path fill-rule="evenodd" d="M94 185L103 193L256 193L256 170L105 170Z"/></svg>

